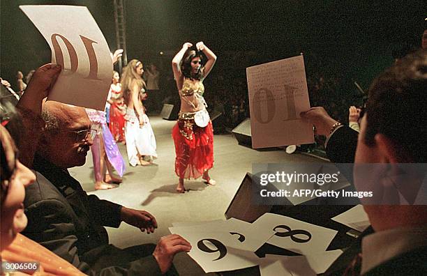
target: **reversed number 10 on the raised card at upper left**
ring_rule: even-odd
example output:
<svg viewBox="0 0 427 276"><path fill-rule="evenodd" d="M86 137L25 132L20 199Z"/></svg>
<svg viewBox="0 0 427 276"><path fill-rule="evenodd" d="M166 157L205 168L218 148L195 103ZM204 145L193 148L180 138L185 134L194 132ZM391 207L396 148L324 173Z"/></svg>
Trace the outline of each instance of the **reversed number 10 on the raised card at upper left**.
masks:
<svg viewBox="0 0 427 276"><path fill-rule="evenodd" d="M59 33L52 34L51 40L52 40L52 45L54 47L55 59L57 60L57 64L62 66L62 68L64 68L63 53L61 50L61 46L59 46L59 43L57 40L58 37L61 38L63 43L66 45L68 54L70 55L70 70L64 70L64 74L65 75L73 74L77 71L77 68L79 66L79 59L77 58L77 52L75 52L73 45L70 43L70 40L68 40L65 36L61 36ZM95 50L93 49L93 45L92 45L93 43L97 43L97 42L85 36L80 36L80 39L83 42L87 55L89 56L89 75L85 77L85 79L100 80L98 79L98 60L96 59Z"/></svg>

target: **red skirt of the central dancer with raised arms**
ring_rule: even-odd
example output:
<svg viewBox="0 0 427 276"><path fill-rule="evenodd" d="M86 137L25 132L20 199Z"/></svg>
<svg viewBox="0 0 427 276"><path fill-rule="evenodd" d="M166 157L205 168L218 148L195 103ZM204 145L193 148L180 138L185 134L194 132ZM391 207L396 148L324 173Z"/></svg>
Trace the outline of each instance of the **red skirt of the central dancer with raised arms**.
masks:
<svg viewBox="0 0 427 276"><path fill-rule="evenodd" d="M212 122L200 128L194 118L182 116L172 129L175 143L175 172L179 178L199 178L213 167Z"/></svg>

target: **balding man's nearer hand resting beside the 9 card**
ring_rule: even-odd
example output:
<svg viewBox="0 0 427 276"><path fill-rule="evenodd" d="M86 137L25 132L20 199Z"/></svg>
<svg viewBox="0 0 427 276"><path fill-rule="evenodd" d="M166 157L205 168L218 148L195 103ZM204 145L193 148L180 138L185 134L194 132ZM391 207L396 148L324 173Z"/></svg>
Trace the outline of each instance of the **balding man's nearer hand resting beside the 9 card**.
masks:
<svg viewBox="0 0 427 276"><path fill-rule="evenodd" d="M160 238L157 243L156 249L153 252L153 256L156 259L160 271L166 273L172 266L175 254L179 252L189 252L191 245L183 237L172 234Z"/></svg>

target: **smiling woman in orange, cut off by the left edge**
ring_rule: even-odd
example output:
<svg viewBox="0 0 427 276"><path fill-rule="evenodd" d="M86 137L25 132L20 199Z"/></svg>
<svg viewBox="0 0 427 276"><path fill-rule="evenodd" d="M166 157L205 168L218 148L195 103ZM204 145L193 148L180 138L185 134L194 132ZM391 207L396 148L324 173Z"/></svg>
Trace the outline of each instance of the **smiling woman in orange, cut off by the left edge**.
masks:
<svg viewBox="0 0 427 276"><path fill-rule="evenodd" d="M33 183L36 176L17 159L15 143L3 125L0 125L0 141L1 261L39 262L38 275L83 275L64 259L20 234L27 226L27 217L22 205L24 188ZM33 273L31 270L24 269L19 272L23 275Z"/></svg>

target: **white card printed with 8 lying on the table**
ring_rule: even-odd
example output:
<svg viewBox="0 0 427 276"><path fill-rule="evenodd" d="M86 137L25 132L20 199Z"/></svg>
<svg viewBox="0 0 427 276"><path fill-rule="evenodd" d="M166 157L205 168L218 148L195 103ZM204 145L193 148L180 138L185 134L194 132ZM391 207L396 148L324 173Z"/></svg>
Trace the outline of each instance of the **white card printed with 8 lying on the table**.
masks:
<svg viewBox="0 0 427 276"><path fill-rule="evenodd" d="M292 217L265 213L254 225L273 233L267 243L302 255L324 252L338 231L295 220Z"/></svg>

